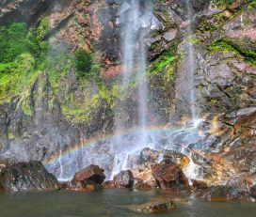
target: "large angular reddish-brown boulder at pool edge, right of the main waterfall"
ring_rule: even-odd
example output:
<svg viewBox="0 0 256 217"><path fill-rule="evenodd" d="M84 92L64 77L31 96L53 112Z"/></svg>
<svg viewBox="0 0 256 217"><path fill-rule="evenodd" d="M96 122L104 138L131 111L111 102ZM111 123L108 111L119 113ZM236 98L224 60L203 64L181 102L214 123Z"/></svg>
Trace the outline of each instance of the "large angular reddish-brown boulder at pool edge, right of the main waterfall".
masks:
<svg viewBox="0 0 256 217"><path fill-rule="evenodd" d="M169 189L172 187L189 187L188 180L182 169L170 160L164 160L152 166L152 176L158 187Z"/></svg>

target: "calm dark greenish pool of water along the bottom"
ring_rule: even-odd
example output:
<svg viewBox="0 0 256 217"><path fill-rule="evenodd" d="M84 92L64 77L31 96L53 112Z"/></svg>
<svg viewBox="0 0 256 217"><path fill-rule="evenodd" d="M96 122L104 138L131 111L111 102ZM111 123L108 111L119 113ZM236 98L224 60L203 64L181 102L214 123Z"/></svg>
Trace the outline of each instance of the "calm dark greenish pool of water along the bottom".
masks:
<svg viewBox="0 0 256 217"><path fill-rule="evenodd" d="M205 202L193 197L173 198L176 210L158 214L133 211L130 206L169 197L159 192L99 190L91 193L0 193L1 217L113 217L113 216L207 216L254 217L254 203Z"/></svg>

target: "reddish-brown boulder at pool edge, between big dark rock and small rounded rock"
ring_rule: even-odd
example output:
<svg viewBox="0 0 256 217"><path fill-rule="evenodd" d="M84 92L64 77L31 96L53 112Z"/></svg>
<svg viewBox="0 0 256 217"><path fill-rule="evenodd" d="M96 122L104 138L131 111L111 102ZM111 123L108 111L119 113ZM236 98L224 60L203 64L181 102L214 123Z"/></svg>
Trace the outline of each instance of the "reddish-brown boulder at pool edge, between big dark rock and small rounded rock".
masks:
<svg viewBox="0 0 256 217"><path fill-rule="evenodd" d="M104 182L104 169L98 165L89 165L74 174L72 182L83 182L85 184L102 184Z"/></svg>

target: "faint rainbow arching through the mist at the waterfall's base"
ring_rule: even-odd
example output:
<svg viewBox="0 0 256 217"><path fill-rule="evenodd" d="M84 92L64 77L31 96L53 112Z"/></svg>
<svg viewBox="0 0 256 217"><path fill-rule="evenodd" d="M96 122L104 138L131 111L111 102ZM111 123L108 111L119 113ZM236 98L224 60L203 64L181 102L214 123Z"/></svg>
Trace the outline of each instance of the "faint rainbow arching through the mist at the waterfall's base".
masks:
<svg viewBox="0 0 256 217"><path fill-rule="evenodd" d="M69 156L77 151L79 151L80 149L83 149L84 147L88 147L88 146L93 146L95 144L98 143L104 143L106 141L109 140L114 140L116 138L122 137L122 136L129 136L129 135L138 135L141 133L149 133L149 134L153 134L153 133L169 133L169 132L196 132L196 128L191 127L191 128L180 128L180 129L175 129L175 128L169 128L167 126L157 126L157 127L151 127L151 128L147 128L144 130L141 129L131 129L131 130L127 130L127 131L123 131L120 132L119 134L108 134L105 136L98 136L98 137L94 137L94 138L89 138L89 139L85 139L82 142L78 143L78 144L74 144L72 146L70 146L69 148L67 148L66 150L64 150L61 153L61 156L59 154L59 152L53 154L49 161L46 163L46 167L51 167L52 165L56 164L59 161L59 158L65 158L66 156Z"/></svg>

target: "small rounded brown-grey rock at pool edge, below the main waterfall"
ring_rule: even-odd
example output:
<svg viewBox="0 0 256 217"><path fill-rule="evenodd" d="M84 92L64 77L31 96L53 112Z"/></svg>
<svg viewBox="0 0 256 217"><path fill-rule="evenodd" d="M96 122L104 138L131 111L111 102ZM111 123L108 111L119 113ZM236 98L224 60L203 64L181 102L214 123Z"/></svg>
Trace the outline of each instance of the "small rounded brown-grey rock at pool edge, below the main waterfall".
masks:
<svg viewBox="0 0 256 217"><path fill-rule="evenodd" d="M113 180L116 188L132 188L134 185L134 175L131 170L120 171Z"/></svg>

